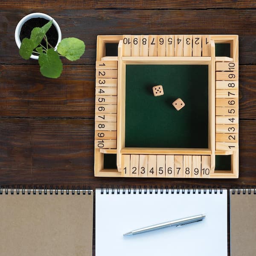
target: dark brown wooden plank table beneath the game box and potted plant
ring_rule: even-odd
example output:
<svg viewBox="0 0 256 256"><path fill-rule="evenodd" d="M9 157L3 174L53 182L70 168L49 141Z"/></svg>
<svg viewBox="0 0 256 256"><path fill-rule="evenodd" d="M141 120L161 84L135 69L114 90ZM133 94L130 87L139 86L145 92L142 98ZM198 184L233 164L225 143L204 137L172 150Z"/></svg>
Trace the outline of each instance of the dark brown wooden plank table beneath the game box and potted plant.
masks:
<svg viewBox="0 0 256 256"><path fill-rule="evenodd" d="M59 79L41 76L14 40L25 15L44 12L62 37L86 44L79 61L63 60ZM1 186L222 186L256 185L256 1L32 1L0 3ZM239 179L134 179L93 175L97 35L239 35Z"/></svg>

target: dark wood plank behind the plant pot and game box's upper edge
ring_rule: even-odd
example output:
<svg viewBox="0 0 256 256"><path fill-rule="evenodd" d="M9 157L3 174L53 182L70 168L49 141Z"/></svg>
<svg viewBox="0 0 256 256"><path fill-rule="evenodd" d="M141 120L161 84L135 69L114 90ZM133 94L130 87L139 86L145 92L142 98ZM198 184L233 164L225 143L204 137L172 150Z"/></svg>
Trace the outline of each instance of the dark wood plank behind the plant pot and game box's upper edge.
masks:
<svg viewBox="0 0 256 256"><path fill-rule="evenodd" d="M35 60L25 61L20 58L14 32L22 17L38 10L15 9L16 6L13 8L5 10L3 6L0 9L0 64L35 64ZM63 38L78 37L86 44L86 51L81 59L74 63L64 61L66 64L95 64L96 36L123 34L236 34L239 35L239 64L256 62L256 9L66 10L61 6L60 9L44 9L44 12L58 22Z"/></svg>

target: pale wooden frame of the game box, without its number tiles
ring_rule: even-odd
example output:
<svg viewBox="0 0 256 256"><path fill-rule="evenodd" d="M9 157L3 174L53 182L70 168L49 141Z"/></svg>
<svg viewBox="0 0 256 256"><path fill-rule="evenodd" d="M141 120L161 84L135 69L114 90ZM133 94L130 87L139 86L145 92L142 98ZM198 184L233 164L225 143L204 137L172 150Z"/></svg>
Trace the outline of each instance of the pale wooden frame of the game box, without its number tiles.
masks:
<svg viewBox="0 0 256 256"><path fill-rule="evenodd" d="M122 177L123 154L159 154L159 155L209 155L209 178L237 178L239 176L238 139L236 150L215 150L215 62L229 61L238 63L238 36L237 35L209 35L210 56L199 57L142 57L123 56L123 35L99 35L97 37L96 61L112 60L105 57L105 44L118 43L117 58L117 120L116 120L116 148L97 148L95 140L94 175L99 177ZM215 57L215 43L229 43L230 57ZM97 63L96 62L96 63ZM126 64L206 64L208 65L208 148L126 148L125 147L125 67ZM96 67L97 68L97 67ZM238 114L237 114L238 116ZM238 136L238 134L237 134ZM104 169L104 154L116 154L117 169ZM231 155L230 171L215 171L215 154ZM131 177L131 176L127 176ZM136 176L139 177L139 176Z"/></svg>

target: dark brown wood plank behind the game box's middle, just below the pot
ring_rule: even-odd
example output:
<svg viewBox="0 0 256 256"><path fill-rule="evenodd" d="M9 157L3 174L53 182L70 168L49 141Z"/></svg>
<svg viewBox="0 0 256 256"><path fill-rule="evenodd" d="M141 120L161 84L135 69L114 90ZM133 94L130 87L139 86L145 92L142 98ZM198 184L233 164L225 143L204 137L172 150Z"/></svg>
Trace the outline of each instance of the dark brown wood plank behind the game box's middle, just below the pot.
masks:
<svg viewBox="0 0 256 256"><path fill-rule="evenodd" d="M95 66L64 65L59 79L31 64L0 65L0 74L1 116L94 118ZM240 119L256 119L255 81L256 66L240 65Z"/></svg>

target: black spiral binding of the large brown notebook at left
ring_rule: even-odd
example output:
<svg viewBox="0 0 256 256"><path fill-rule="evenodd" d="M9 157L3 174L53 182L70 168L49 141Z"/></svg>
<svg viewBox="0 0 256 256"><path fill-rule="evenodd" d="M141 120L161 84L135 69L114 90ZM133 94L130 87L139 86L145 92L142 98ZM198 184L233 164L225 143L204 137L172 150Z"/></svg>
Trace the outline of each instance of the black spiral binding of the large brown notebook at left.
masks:
<svg viewBox="0 0 256 256"><path fill-rule="evenodd" d="M9 188L9 186L3 188L0 186L0 195L9 195L9 193L11 195L91 195L91 188L90 186L88 187L83 187L82 189L80 189L80 187L72 187L72 189L69 189L68 187L66 189L64 189L62 186L59 189L58 186L55 187L55 189L52 188L52 186L50 186L49 188L47 188L47 186L44 186L44 189L39 186L38 188L36 186L34 186L33 188L31 188L30 186L28 188L25 188L25 186L23 186L22 188L20 188L20 186L17 186L17 188L15 189L13 186L11 188Z"/></svg>

